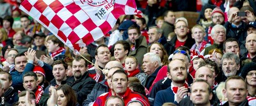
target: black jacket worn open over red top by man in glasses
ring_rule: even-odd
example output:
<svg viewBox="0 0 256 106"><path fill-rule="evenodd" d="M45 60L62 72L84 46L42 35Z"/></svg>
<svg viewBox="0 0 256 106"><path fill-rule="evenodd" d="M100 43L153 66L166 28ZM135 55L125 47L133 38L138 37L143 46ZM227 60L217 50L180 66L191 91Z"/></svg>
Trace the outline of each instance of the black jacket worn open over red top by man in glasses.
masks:
<svg viewBox="0 0 256 106"><path fill-rule="evenodd" d="M168 41L167 44L164 45L165 50L167 51L168 55L171 55L175 51L175 42L176 42L177 36L175 35L171 41ZM191 38L190 35L187 35L187 40L183 46L187 46L189 49L193 46L195 43L194 39Z"/></svg>

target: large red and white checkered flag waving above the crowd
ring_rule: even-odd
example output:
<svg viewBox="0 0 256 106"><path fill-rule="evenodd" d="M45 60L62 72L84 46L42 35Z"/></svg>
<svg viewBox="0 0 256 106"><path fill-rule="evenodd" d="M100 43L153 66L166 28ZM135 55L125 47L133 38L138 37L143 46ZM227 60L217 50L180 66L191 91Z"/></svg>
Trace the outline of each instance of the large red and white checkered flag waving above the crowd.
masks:
<svg viewBox="0 0 256 106"><path fill-rule="evenodd" d="M142 16L135 0L24 0L20 9L75 51L104 36L120 15Z"/></svg>

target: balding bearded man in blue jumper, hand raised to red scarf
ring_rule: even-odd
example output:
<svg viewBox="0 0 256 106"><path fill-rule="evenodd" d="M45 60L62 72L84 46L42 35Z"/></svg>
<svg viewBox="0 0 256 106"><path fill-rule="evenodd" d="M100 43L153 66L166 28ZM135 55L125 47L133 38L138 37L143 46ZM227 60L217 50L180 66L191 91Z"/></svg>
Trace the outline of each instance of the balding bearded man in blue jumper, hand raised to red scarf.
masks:
<svg viewBox="0 0 256 106"><path fill-rule="evenodd" d="M185 82L187 68L182 60L175 59L168 64L167 77L171 79L171 86L156 93L154 106L162 106L165 102L178 105L183 98L187 97L188 85Z"/></svg>

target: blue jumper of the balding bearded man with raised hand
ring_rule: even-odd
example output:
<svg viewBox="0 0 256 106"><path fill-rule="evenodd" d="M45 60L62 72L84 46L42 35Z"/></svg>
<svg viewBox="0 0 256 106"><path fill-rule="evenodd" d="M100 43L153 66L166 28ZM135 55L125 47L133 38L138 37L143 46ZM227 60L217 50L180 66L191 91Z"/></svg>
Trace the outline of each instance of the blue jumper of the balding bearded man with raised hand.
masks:
<svg viewBox="0 0 256 106"><path fill-rule="evenodd" d="M174 93L171 90L171 86L165 90L158 91L155 95L154 106L162 106L165 102L172 102L178 105L178 103L174 101Z"/></svg>

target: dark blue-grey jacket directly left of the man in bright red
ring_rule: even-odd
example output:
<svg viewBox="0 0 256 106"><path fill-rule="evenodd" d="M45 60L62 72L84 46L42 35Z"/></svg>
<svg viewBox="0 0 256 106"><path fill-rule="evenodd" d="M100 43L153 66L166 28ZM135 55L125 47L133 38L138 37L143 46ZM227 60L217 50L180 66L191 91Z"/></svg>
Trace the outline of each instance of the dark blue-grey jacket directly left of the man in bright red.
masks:
<svg viewBox="0 0 256 106"><path fill-rule="evenodd" d="M101 94L108 92L108 86L105 85L106 81L105 79L95 84L91 93L87 95L87 99L83 102L83 106L89 106L90 102L94 102Z"/></svg>

